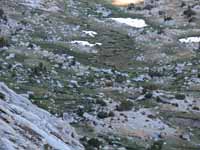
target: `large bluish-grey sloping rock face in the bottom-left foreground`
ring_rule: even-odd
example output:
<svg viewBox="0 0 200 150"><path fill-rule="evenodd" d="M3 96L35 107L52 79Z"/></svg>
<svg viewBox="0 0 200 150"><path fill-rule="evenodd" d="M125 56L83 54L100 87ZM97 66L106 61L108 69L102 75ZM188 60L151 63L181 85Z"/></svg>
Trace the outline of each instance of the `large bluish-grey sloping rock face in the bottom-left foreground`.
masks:
<svg viewBox="0 0 200 150"><path fill-rule="evenodd" d="M0 83L0 149L82 150L74 129L63 120Z"/></svg>

